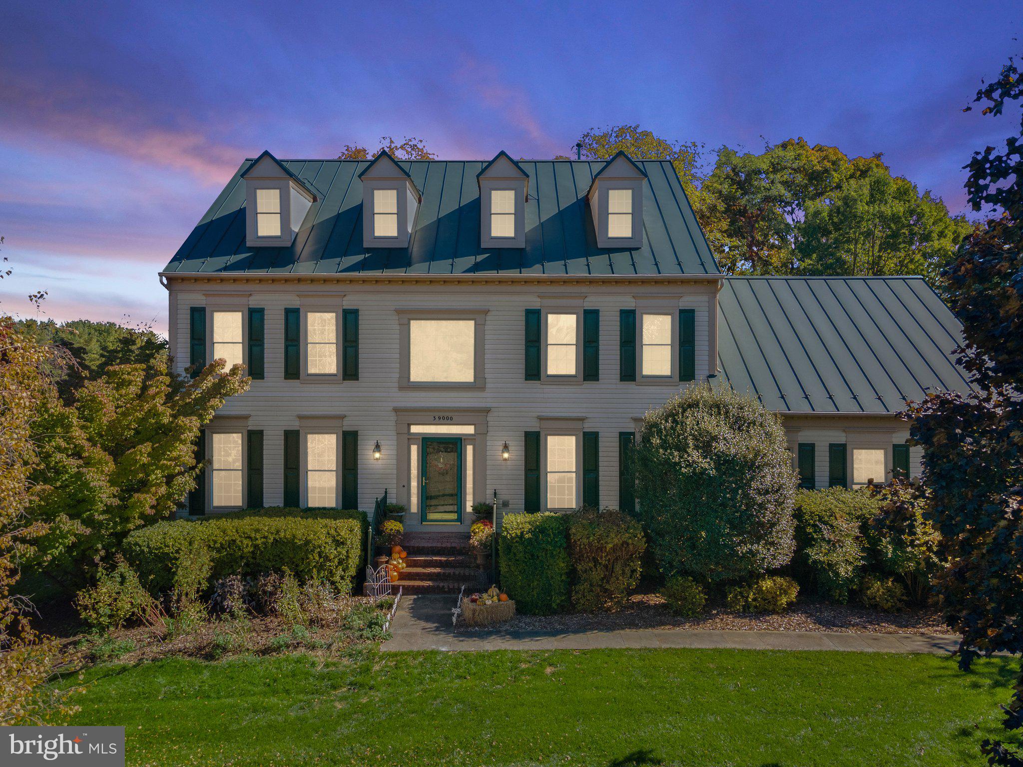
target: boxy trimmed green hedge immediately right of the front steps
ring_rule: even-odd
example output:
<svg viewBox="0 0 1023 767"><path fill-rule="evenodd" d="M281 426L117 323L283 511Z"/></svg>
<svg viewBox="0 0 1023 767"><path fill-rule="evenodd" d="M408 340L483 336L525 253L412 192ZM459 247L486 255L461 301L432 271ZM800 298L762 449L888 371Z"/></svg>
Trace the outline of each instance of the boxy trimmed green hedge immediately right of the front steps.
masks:
<svg viewBox="0 0 1023 767"><path fill-rule="evenodd" d="M545 616L568 608L569 521L549 512L505 514L497 544L501 586L520 612Z"/></svg>

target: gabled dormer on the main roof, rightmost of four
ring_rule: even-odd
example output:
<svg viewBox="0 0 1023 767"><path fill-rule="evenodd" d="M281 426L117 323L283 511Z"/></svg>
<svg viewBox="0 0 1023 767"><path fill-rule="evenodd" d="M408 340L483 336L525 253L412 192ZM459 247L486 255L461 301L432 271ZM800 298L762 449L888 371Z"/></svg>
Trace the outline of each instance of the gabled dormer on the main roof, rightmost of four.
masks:
<svg viewBox="0 0 1023 767"><path fill-rule="evenodd" d="M647 174L624 151L593 176L586 198L597 247L642 247L642 187Z"/></svg>

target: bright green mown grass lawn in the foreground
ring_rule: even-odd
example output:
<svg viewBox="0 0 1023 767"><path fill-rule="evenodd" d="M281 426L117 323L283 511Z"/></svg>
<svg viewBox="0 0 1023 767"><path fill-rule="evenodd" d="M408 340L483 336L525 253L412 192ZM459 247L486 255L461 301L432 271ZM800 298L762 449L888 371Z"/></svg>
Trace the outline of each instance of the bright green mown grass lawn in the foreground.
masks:
<svg viewBox="0 0 1023 767"><path fill-rule="evenodd" d="M364 652L86 672L128 764L963 765L1016 662L762 650ZM975 724L979 723L979 728Z"/></svg>

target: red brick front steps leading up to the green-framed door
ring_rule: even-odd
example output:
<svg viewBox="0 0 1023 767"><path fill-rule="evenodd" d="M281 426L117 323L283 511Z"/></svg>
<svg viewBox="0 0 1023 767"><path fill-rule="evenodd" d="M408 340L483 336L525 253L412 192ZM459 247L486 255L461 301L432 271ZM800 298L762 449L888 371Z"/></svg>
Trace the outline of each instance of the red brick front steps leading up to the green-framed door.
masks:
<svg viewBox="0 0 1023 767"><path fill-rule="evenodd" d="M489 576L476 567L468 533L406 533L401 545L407 567L392 585L394 593L398 586L405 594L457 594L462 585L473 591L486 588ZM391 552L377 547L376 553Z"/></svg>

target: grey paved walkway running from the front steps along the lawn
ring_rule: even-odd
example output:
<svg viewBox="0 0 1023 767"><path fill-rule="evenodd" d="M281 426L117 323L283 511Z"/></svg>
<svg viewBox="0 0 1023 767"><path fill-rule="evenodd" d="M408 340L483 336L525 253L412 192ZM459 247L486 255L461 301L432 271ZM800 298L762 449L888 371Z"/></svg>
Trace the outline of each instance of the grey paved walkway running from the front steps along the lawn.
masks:
<svg viewBox="0 0 1023 767"><path fill-rule="evenodd" d="M705 647L735 649L839 649L861 652L931 652L959 646L946 634L853 634L837 631L690 631L619 629L609 631L492 631L455 633L451 608L456 597L402 596L385 651L488 649L598 649L605 647Z"/></svg>

